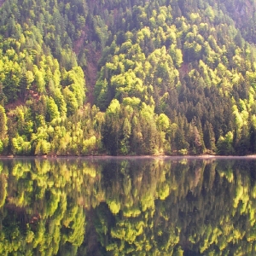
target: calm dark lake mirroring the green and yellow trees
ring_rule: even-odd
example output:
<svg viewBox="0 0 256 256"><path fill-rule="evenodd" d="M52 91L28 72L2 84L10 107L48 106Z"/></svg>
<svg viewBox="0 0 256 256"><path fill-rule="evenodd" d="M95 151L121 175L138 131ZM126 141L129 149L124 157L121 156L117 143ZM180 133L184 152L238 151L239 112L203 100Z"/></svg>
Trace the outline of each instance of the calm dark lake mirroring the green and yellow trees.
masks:
<svg viewBox="0 0 256 256"><path fill-rule="evenodd" d="M256 160L0 160L0 255L255 255Z"/></svg>

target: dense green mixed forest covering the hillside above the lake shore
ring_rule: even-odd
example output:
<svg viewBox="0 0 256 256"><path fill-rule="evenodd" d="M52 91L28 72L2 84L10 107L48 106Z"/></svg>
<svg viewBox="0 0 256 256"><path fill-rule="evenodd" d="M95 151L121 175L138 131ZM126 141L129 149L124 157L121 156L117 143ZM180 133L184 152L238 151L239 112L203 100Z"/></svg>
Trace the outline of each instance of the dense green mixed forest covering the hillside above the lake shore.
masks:
<svg viewBox="0 0 256 256"><path fill-rule="evenodd" d="M2 2L0 154L256 152L254 0Z"/></svg>

